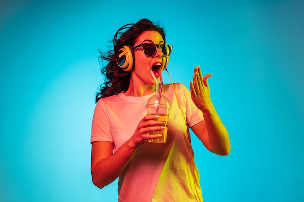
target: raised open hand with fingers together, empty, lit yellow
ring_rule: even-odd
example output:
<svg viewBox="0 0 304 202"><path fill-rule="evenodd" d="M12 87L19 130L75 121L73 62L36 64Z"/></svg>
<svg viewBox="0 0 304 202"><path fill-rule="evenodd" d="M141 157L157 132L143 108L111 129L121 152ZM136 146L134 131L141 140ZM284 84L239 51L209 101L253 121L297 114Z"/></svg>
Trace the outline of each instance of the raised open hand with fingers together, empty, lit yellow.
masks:
<svg viewBox="0 0 304 202"><path fill-rule="evenodd" d="M209 111L213 104L210 98L208 78L212 74L202 76L201 67L194 68L193 81L190 82L191 98L194 104L202 111Z"/></svg>

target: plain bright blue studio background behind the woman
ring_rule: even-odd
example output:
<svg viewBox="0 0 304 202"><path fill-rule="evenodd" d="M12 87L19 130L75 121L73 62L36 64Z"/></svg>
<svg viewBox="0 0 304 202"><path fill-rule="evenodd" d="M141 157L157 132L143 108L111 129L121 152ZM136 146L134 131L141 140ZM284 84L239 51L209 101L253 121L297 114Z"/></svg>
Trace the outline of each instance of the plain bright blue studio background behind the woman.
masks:
<svg viewBox="0 0 304 202"><path fill-rule="evenodd" d="M303 202L303 0L1 0L0 201L117 201L90 176L98 49L140 18L164 25L173 82L213 74L232 149L192 137L204 201Z"/></svg>

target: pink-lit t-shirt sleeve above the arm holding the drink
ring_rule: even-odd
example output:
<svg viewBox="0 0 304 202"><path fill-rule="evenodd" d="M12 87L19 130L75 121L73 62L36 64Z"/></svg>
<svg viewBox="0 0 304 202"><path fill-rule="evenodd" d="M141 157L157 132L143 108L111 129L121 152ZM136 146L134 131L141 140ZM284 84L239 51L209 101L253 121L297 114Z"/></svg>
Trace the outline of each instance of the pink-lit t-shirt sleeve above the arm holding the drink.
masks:
<svg viewBox="0 0 304 202"><path fill-rule="evenodd" d="M95 141L113 142L107 110L102 99L96 104L93 115L91 143Z"/></svg>

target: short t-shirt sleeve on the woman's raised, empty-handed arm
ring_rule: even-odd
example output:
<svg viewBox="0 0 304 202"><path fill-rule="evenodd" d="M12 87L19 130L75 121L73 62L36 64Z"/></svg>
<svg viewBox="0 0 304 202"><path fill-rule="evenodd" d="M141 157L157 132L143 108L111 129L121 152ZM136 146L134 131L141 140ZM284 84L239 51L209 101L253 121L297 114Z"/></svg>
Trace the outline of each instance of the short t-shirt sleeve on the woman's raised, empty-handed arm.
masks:
<svg viewBox="0 0 304 202"><path fill-rule="evenodd" d="M194 104L192 98L191 98L191 92L189 89L186 88L184 84L180 84L182 93L184 94L186 98L186 120L189 127L192 127L193 125L203 121L203 113L200 109L196 107Z"/></svg>

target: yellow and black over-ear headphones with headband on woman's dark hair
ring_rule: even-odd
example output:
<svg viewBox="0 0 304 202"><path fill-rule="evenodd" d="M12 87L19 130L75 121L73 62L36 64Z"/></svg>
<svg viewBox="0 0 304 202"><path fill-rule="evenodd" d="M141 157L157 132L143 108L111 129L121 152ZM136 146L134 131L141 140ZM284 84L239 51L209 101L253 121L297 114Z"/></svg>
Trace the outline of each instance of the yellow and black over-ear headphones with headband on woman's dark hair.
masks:
<svg viewBox="0 0 304 202"><path fill-rule="evenodd" d="M117 36L121 34L121 30L129 29L132 27L132 24L126 24L119 28L119 30L115 33L113 39L113 46L114 46L114 53L116 56L116 64L122 68L124 71L130 71L135 65L135 56L133 52L133 48L130 45L122 46L119 50L117 50L116 43L117 43Z"/></svg>

